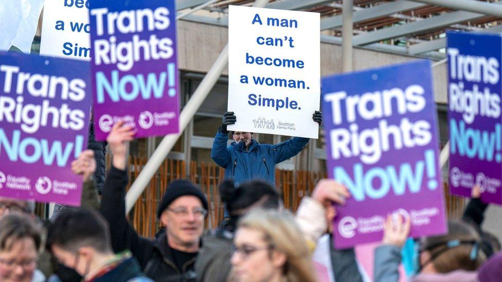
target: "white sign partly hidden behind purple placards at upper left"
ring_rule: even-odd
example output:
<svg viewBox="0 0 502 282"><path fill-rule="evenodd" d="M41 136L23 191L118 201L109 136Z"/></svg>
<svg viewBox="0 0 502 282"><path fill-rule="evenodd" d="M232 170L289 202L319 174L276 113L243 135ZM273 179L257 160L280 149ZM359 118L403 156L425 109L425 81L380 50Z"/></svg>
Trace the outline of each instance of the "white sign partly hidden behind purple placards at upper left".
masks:
<svg viewBox="0 0 502 282"><path fill-rule="evenodd" d="M41 55L91 60L90 1L45 1L40 42Z"/></svg>

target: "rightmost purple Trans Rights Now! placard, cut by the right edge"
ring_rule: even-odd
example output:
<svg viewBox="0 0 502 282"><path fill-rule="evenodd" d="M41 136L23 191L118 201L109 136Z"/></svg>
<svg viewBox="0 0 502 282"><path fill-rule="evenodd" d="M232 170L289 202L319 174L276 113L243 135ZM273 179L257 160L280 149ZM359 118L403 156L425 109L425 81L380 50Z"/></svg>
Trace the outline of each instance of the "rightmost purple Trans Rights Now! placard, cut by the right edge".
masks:
<svg viewBox="0 0 502 282"><path fill-rule="evenodd" d="M450 192L502 204L500 84L502 37L449 32Z"/></svg>

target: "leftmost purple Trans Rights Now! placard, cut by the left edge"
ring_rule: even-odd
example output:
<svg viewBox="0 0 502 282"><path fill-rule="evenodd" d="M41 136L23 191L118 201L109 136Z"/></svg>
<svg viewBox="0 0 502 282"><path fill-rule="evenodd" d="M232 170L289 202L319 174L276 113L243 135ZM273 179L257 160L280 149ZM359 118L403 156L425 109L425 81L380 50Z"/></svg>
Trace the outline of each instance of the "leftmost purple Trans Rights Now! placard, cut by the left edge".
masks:
<svg viewBox="0 0 502 282"><path fill-rule="evenodd" d="M89 63L0 53L0 196L80 205Z"/></svg>

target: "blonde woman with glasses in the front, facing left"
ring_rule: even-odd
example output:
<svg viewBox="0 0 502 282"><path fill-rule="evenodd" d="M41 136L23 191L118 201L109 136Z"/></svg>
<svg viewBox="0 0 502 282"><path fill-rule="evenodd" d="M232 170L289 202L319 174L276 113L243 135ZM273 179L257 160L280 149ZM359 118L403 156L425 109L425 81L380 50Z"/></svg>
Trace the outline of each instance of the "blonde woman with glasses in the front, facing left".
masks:
<svg viewBox="0 0 502 282"><path fill-rule="evenodd" d="M316 281L307 242L290 214L250 211L239 221L234 245L232 281Z"/></svg>

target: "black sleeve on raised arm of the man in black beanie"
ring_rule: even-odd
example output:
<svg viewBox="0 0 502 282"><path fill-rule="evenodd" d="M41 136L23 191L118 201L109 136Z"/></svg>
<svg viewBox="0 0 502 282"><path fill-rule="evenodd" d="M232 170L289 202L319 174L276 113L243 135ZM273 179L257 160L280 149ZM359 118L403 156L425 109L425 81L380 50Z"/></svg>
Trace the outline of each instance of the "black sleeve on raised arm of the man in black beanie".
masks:
<svg viewBox="0 0 502 282"><path fill-rule="evenodd" d="M130 250L144 269L153 251L152 241L140 237L129 224L126 217L127 172L110 167L103 185L101 214L110 225L113 251L118 253Z"/></svg>

